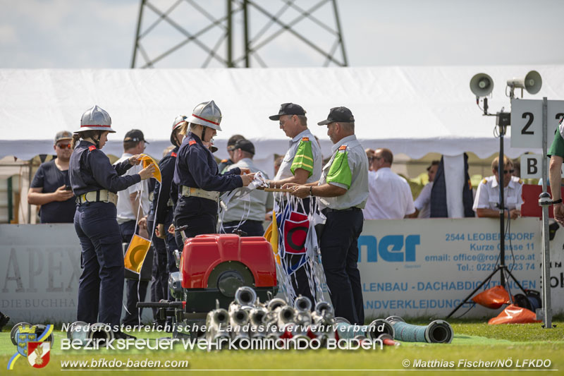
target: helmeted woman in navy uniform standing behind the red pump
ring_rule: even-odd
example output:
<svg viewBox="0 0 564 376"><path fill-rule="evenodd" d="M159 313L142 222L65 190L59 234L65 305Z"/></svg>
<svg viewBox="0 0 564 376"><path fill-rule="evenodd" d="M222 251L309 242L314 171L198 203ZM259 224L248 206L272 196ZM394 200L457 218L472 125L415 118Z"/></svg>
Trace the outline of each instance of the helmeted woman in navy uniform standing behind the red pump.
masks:
<svg viewBox="0 0 564 376"><path fill-rule="evenodd" d="M220 175L212 152L202 142L210 142L221 131L221 111L215 102L198 104L181 133L185 138L178 150L173 182L178 186L178 202L174 210L176 228L188 225L185 235L216 234L217 209L221 192L248 186L255 174L249 169L233 169ZM178 249L183 249L182 236L176 233Z"/></svg>

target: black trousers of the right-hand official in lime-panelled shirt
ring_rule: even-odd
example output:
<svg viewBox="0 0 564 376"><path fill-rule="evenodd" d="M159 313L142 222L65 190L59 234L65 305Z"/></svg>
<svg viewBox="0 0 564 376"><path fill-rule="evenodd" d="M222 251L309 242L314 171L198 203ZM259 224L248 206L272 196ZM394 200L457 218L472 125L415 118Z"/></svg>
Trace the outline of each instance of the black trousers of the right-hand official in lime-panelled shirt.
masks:
<svg viewBox="0 0 564 376"><path fill-rule="evenodd" d="M335 315L351 324L364 324L364 301L357 267L362 210L326 212L321 234L321 260Z"/></svg>

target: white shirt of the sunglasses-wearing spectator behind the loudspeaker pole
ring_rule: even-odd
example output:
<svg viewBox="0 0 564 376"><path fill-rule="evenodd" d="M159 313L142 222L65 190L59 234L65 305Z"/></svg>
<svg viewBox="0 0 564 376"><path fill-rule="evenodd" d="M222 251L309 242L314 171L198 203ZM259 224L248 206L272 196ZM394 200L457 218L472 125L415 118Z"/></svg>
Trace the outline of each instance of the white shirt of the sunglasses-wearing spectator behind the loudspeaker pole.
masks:
<svg viewBox="0 0 564 376"><path fill-rule="evenodd" d="M511 176L508 186L503 188L503 199L505 200L505 206L508 207L509 210L521 210L521 205L523 204L523 198L521 197L522 188L523 184L520 178L516 176ZM496 206L498 202L499 183L496 180L496 176L488 176L478 185L472 210L474 210L474 212L477 209L498 210Z"/></svg>

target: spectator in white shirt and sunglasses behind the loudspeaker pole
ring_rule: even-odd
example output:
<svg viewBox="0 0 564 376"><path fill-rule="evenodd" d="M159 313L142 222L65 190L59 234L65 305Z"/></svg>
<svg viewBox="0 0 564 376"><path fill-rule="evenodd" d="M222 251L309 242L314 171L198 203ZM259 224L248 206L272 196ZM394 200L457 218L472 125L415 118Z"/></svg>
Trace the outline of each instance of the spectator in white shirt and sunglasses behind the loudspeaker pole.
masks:
<svg viewBox="0 0 564 376"><path fill-rule="evenodd" d="M472 209L478 217L499 218L499 174L498 160L496 157L491 162L491 172L493 176L488 176L479 183ZM503 157L503 199L505 200L505 217L510 216L515 219L521 214L522 182L520 178L512 176L513 162L508 157Z"/></svg>

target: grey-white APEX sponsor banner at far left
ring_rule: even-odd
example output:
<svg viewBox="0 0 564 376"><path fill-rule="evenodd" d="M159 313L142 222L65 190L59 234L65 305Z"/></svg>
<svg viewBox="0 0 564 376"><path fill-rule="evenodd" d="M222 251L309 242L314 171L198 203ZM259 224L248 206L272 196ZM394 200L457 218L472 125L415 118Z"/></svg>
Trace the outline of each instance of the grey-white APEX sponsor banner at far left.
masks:
<svg viewBox="0 0 564 376"><path fill-rule="evenodd" d="M0 239L0 312L11 322L76 321L82 269L74 225L0 224ZM142 317L152 321L152 311Z"/></svg>

